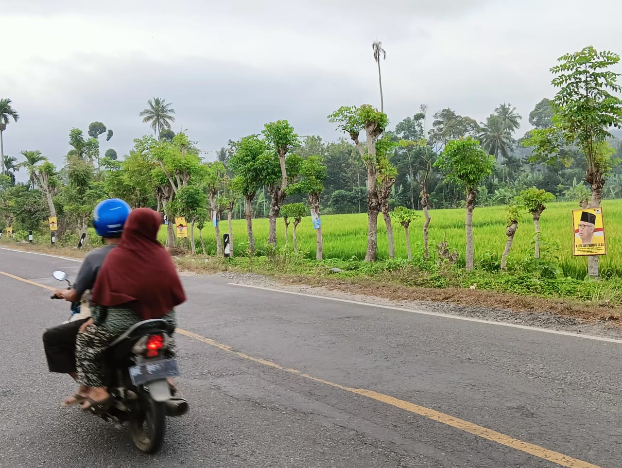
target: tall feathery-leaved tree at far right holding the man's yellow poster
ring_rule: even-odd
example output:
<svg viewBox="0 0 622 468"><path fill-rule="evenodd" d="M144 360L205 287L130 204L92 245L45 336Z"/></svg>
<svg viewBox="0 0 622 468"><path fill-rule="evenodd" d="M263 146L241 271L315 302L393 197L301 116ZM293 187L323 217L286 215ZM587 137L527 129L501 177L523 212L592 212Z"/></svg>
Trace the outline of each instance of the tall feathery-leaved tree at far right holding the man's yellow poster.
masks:
<svg viewBox="0 0 622 468"><path fill-rule="evenodd" d="M592 188L588 207L596 208L606 177L618 163L606 139L613 136L611 127L622 128L622 100L611 94L622 91L616 83L620 73L608 69L620 62L620 55L588 46L562 55L558 62L550 69L557 75L552 85L559 88L552 126L532 131L524 145L534 147L532 160L544 162L569 162L568 148L577 147L585 156L585 181ZM588 257L588 274L598 278L598 256Z"/></svg>

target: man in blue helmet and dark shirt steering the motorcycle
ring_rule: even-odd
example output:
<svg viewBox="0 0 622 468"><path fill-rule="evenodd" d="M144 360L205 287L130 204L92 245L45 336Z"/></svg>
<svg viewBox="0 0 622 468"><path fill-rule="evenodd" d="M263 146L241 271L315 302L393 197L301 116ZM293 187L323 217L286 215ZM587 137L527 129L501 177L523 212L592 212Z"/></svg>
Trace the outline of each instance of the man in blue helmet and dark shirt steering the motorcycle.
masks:
<svg viewBox="0 0 622 468"><path fill-rule="evenodd" d="M129 216L131 208L121 199L107 199L100 202L93 210L93 227L100 235L105 246L88 253L78 271L78 276L72 289L54 291L55 296L65 301L78 302L86 290L91 290L95 284L97 274L108 253L121 240L123 226ZM68 373L76 379L75 345L80 330L92 323L92 319L83 318L66 324L47 329L43 335L45 357L50 372ZM63 406L83 403L86 398L86 388L80 387L63 401Z"/></svg>

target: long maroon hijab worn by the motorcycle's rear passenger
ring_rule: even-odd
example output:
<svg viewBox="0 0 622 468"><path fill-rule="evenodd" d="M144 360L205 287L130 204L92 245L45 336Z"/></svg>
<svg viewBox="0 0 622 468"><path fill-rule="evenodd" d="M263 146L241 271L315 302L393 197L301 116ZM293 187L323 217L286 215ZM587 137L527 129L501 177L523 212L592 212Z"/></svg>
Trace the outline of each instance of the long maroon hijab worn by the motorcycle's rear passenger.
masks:
<svg viewBox="0 0 622 468"><path fill-rule="evenodd" d="M143 320L159 319L186 296L177 270L157 240L162 217L150 208L129 214L121 242L106 255L91 300L100 306L128 304Z"/></svg>

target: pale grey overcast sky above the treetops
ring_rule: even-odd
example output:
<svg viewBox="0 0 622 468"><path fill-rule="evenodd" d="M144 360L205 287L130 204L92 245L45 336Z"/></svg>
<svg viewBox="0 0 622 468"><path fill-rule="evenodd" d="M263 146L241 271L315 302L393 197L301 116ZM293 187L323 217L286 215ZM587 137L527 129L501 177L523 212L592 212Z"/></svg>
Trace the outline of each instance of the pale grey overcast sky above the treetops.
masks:
<svg viewBox="0 0 622 468"><path fill-rule="evenodd" d="M429 121L445 107L482 121L508 102L521 135L554 94L560 55L586 45L622 54L619 0L0 0L0 12L0 98L21 115L4 152L39 149L59 166L69 130L86 134L95 120L114 131L102 154L123 157L151 132L138 114L154 96L208 159L276 119L337 139L329 113L380 105L375 39L391 126L421 103Z"/></svg>

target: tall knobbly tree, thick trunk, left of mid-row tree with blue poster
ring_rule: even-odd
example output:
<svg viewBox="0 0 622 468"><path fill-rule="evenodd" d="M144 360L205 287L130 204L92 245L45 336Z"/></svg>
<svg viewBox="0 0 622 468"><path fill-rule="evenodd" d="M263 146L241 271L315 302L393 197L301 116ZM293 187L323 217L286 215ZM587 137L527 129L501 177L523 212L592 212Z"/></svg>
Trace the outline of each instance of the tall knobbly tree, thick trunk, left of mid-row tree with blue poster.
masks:
<svg viewBox="0 0 622 468"><path fill-rule="evenodd" d="M287 120L267 123L261 133L264 135L269 148L269 151L264 154L264 156L266 156L264 162L267 164L262 164L264 168L264 177L262 177L262 180L264 181L264 184L267 185L271 195L269 214L270 232L268 236L268 243L273 247L276 247L276 218L279 216L281 205L287 196L288 174L285 159L288 155L289 157L287 157L287 159L290 159L290 162L294 162L295 159L299 159L290 152L295 146L300 144L300 140L299 136L294 132L294 127L292 127ZM277 181L277 179L279 179L277 174L275 174L274 171L269 170L271 167L270 159L273 154L278 157L281 176L280 184ZM295 175L296 174L290 173L289 177L294 178Z"/></svg>

